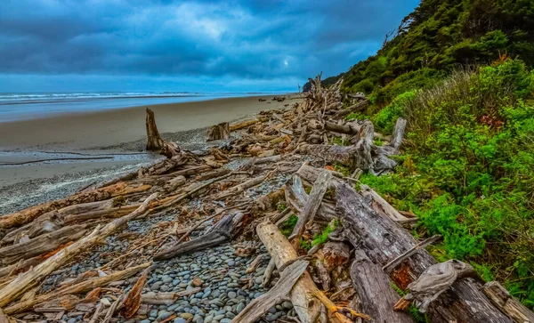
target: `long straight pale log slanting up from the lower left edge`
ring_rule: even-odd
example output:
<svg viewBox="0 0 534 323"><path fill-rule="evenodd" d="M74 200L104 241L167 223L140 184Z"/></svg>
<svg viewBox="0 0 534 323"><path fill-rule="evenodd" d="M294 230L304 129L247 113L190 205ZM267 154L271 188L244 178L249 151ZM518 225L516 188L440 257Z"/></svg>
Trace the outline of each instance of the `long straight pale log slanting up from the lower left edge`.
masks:
<svg viewBox="0 0 534 323"><path fill-rule="evenodd" d="M42 279L44 279L44 277L50 275L53 271L56 271L66 262L69 262L74 256L94 246L98 241L108 237L115 230L125 225L125 223L134 220L137 216L143 214L149 208L150 202L155 198L158 198L157 193L154 193L150 195L149 198L145 199L142 206L139 206L139 208L131 214L109 222L103 228L97 226L90 235L77 240L77 242L62 249L59 253L54 254L36 267L20 274L17 279L12 280L9 285L0 290L0 307L4 307L7 303L14 301L29 288L36 286Z"/></svg>

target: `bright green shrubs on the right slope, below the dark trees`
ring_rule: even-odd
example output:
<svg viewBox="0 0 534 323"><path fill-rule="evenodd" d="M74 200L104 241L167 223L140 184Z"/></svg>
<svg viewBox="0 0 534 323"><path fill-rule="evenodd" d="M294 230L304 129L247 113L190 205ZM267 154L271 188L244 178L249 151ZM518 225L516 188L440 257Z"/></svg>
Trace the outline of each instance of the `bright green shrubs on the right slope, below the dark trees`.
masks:
<svg viewBox="0 0 534 323"><path fill-rule="evenodd" d="M492 38L493 39L493 38ZM441 234L440 261L471 262L534 307L534 74L523 61L459 70L433 88L403 93L371 119L408 120L394 174L363 174L394 206ZM400 103L401 102L401 103Z"/></svg>

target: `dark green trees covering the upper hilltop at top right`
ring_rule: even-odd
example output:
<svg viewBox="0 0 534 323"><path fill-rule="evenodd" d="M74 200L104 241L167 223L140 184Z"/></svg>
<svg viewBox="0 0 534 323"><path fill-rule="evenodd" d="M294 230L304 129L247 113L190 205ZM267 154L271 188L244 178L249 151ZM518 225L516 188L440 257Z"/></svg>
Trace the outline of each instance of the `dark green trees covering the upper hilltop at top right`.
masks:
<svg viewBox="0 0 534 323"><path fill-rule="evenodd" d="M534 65L530 0L422 0L397 36L344 74L343 90L371 95L384 106L424 89L459 65L489 63L502 54Z"/></svg>

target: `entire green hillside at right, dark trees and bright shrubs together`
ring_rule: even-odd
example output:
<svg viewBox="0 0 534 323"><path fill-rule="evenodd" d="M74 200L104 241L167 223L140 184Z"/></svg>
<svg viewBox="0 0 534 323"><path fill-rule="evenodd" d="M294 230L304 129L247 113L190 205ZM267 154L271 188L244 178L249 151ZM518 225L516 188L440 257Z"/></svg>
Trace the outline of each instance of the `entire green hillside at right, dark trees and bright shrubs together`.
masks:
<svg viewBox="0 0 534 323"><path fill-rule="evenodd" d="M376 56L344 74L345 93L391 133L408 119L401 166L360 181L441 234L440 260L470 262L534 307L534 2L423 0Z"/></svg>

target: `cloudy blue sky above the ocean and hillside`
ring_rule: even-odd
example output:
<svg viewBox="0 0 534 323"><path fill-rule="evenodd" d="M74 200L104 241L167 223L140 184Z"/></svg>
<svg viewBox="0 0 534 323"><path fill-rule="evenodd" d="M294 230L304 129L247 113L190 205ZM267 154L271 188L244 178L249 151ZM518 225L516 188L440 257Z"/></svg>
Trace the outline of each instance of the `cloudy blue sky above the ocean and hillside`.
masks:
<svg viewBox="0 0 534 323"><path fill-rule="evenodd" d="M295 92L419 0L1 0L0 93Z"/></svg>

